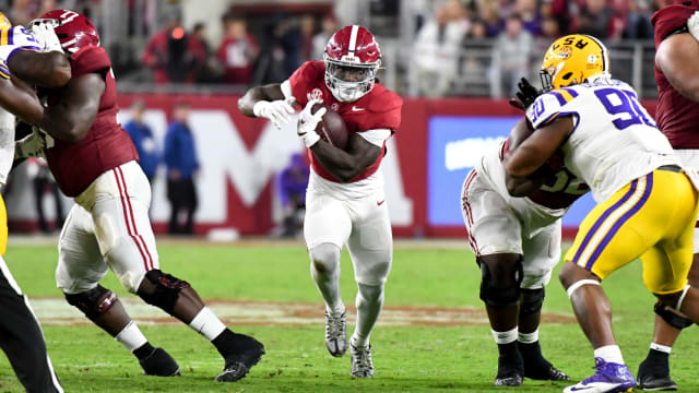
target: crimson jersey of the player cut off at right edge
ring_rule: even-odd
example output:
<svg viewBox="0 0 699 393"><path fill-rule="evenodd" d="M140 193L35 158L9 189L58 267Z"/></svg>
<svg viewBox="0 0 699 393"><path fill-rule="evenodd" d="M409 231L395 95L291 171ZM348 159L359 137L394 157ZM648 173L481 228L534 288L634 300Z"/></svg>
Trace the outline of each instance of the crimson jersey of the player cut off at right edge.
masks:
<svg viewBox="0 0 699 393"><path fill-rule="evenodd" d="M655 12L651 23L655 31L655 48L676 32L686 32L687 19L697 11L694 5L668 5ZM657 83L657 128L673 148L699 148L699 104L679 94L655 66Z"/></svg>

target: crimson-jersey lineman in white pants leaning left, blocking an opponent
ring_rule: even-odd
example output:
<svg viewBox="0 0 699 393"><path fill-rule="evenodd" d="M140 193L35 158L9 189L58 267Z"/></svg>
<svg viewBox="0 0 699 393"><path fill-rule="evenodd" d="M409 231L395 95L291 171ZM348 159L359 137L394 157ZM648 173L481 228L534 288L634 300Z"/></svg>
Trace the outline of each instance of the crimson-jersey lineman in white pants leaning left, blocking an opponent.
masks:
<svg viewBox="0 0 699 393"><path fill-rule="evenodd" d="M33 29L54 27L69 57L71 79L42 90L47 107L33 134L61 191L74 198L59 239L56 281L69 303L133 353L146 374L175 376L179 367L154 348L117 296L99 285L111 269L123 287L202 334L225 359L216 381L236 381L264 354L252 337L228 330L186 282L159 270L149 219L151 188L129 135L117 123L111 63L94 25L80 13L50 11ZM13 61L10 61L13 72Z"/></svg>

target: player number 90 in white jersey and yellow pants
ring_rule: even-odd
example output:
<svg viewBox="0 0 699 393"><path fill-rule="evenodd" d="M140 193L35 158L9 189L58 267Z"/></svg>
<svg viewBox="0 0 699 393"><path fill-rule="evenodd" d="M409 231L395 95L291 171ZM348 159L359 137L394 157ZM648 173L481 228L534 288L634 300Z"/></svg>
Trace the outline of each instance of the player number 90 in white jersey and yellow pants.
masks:
<svg viewBox="0 0 699 393"><path fill-rule="evenodd" d="M664 305L699 321L699 290L687 285L699 209L695 174L683 170L628 84L613 80L594 37L557 39L542 64L544 90L528 108L535 131L507 154L513 177L534 172L556 151L592 189L597 205L565 257L560 281L594 347L592 377L565 392L624 392L636 385L612 331L600 282L641 258L643 283Z"/></svg>

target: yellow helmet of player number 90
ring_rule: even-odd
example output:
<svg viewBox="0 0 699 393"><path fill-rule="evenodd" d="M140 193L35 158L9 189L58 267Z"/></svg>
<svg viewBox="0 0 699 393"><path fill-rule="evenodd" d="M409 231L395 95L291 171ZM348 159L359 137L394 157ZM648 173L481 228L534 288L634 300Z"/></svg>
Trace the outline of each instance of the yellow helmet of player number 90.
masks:
<svg viewBox="0 0 699 393"><path fill-rule="evenodd" d="M556 39L548 47L541 79L544 91L549 91L583 83L600 74L609 74L607 48L593 36L573 34Z"/></svg>

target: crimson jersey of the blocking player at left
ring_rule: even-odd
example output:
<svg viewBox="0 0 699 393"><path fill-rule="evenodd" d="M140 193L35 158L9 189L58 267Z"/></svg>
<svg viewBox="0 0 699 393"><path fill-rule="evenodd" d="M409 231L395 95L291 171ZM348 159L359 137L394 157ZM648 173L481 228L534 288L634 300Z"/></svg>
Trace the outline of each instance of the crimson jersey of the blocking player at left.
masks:
<svg viewBox="0 0 699 393"><path fill-rule="evenodd" d="M83 192L99 175L130 160L139 159L129 134L117 122L117 83L111 61L100 47L86 46L70 56L72 78L95 72L105 79L99 109L85 138L71 143L55 140L46 159L58 187L68 196ZM47 91L48 105L61 99L61 90Z"/></svg>

